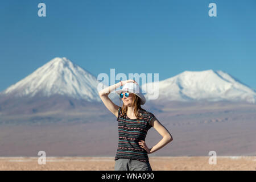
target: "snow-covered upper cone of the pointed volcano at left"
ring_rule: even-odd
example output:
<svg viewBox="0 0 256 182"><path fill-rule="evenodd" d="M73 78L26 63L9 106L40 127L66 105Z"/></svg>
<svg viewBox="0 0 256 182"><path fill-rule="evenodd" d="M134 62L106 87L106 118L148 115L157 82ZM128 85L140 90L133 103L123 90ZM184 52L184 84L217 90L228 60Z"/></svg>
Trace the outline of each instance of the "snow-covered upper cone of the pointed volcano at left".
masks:
<svg viewBox="0 0 256 182"><path fill-rule="evenodd" d="M4 90L14 97L60 94L87 101L100 101L97 78L63 57L56 57Z"/></svg>

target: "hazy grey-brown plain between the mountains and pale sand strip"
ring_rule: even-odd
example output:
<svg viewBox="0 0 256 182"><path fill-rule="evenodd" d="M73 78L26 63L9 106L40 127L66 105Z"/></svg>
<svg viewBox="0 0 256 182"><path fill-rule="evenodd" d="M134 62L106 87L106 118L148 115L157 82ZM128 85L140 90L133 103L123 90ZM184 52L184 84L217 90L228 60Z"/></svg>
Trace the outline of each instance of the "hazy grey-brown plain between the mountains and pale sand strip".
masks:
<svg viewBox="0 0 256 182"><path fill-rule="evenodd" d="M154 115L174 140L149 157L208 156L210 151L216 151L217 156L256 156L256 105L171 104L174 106L160 107L162 111L154 111ZM32 119L13 115L7 122L0 115L0 156L36 157L39 151L45 151L46 156L114 157L118 147L117 118L104 107L101 115L97 111L92 107L81 113L57 114L77 121L55 121L56 115L49 117L45 113ZM145 141L153 147L161 139L151 127Z"/></svg>

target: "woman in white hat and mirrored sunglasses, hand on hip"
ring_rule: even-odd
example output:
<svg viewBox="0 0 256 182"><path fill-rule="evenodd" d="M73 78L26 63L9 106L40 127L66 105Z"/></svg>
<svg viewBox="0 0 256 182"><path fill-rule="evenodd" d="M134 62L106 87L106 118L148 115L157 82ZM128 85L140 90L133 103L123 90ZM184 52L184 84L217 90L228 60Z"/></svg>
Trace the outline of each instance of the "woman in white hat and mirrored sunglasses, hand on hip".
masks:
<svg viewBox="0 0 256 182"><path fill-rule="evenodd" d="M122 89L115 90L123 86ZM115 90L123 101L122 107L115 105L108 97ZM115 171L152 171L148 155L166 146L172 141L172 135L156 119L154 114L142 109L146 102L141 88L134 80L119 81L99 92L104 105L118 121L118 148L115 155ZM147 131L154 127L163 139L154 147L145 143Z"/></svg>

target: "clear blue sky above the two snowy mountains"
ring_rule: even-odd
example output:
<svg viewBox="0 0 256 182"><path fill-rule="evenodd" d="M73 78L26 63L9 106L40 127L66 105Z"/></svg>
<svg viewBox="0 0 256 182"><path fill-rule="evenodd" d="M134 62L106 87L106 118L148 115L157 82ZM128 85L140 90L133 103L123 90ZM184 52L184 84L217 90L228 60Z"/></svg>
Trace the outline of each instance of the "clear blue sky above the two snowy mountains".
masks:
<svg viewBox="0 0 256 182"><path fill-rule="evenodd" d="M38 4L46 4L46 17ZM209 3L217 17L208 15ZM97 77L222 70L256 89L256 1L1 1L0 92L54 57Z"/></svg>

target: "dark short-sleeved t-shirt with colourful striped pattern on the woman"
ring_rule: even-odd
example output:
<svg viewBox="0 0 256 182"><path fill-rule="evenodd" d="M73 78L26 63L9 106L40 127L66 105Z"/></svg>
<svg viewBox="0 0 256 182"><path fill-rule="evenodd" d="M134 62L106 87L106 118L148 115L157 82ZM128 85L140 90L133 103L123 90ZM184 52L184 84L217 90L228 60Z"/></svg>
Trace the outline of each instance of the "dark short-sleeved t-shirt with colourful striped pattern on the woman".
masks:
<svg viewBox="0 0 256 182"><path fill-rule="evenodd" d="M150 121L154 114L142 111L142 119L130 119L118 109L118 147L115 155L117 159L133 159L148 162L147 151L139 145L139 140L145 140L147 131L152 127Z"/></svg>

